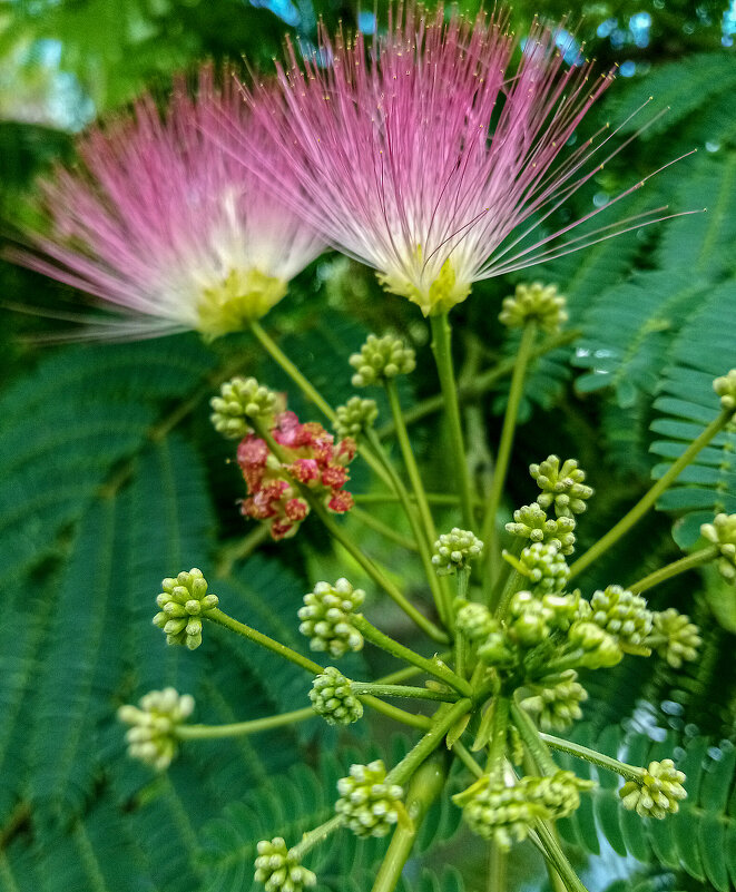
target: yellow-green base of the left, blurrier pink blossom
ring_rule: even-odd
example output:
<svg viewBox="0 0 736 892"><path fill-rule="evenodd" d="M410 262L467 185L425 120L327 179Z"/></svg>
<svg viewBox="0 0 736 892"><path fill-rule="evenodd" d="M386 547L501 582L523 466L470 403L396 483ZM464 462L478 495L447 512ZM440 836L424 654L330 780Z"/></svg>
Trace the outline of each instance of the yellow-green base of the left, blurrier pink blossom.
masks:
<svg viewBox="0 0 736 892"><path fill-rule="evenodd" d="M197 327L210 337L247 327L277 304L287 283L259 269L230 269L216 285L204 288L197 306Z"/></svg>

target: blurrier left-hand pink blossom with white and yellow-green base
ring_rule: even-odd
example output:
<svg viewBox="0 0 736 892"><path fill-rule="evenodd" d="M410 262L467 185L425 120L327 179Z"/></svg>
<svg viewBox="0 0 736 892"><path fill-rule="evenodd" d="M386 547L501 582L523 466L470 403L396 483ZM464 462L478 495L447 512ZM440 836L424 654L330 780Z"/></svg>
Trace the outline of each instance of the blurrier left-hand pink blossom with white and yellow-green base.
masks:
<svg viewBox="0 0 736 892"><path fill-rule="evenodd" d="M267 136L224 73L218 90L203 67L196 98L179 78L164 115L147 97L95 127L79 166L41 184L51 232L27 232L31 251L12 258L117 305L127 318L106 326L117 336L242 329L324 248L228 148L237 139L257 156ZM279 167L279 182L291 178Z"/></svg>

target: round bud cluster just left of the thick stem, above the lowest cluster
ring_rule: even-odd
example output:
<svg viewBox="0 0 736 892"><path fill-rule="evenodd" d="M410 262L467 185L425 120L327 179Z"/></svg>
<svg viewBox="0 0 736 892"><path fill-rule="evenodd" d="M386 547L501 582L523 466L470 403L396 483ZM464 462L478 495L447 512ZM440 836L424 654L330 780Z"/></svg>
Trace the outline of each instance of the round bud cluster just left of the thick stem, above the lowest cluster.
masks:
<svg viewBox="0 0 736 892"><path fill-rule="evenodd" d="M346 825L356 836L385 836L399 820L404 791L386 783L386 770L381 759L369 765L351 765L350 775L337 781L341 798L335 803L337 814L345 815Z"/></svg>

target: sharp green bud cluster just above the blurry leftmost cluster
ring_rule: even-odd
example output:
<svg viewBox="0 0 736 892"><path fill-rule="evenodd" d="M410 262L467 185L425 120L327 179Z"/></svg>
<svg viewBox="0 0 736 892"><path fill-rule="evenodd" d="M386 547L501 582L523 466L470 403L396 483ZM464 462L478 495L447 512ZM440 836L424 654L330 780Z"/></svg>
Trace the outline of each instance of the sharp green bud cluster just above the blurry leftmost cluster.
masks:
<svg viewBox="0 0 736 892"><path fill-rule="evenodd" d="M196 650L202 644L202 620L219 602L217 595L207 595L207 580L193 567L176 579L161 580L164 591L156 598L161 608L154 625L166 633L166 644L186 645Z"/></svg>

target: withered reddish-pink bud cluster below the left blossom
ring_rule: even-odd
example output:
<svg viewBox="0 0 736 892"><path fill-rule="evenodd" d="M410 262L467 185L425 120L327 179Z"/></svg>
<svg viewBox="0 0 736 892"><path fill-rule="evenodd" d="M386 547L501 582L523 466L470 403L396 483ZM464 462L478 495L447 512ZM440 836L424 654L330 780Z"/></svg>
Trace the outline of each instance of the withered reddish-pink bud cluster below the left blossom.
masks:
<svg viewBox="0 0 736 892"><path fill-rule="evenodd" d="M294 412L282 412L271 431L287 454L281 462L267 444L248 434L237 449L248 498L241 511L255 520L271 521L274 539L293 536L310 513L310 506L295 482L324 497L330 511L344 514L353 507L353 497L343 487L350 479L349 464L355 457L355 441L350 437L335 443L335 438L317 422L301 424Z"/></svg>

